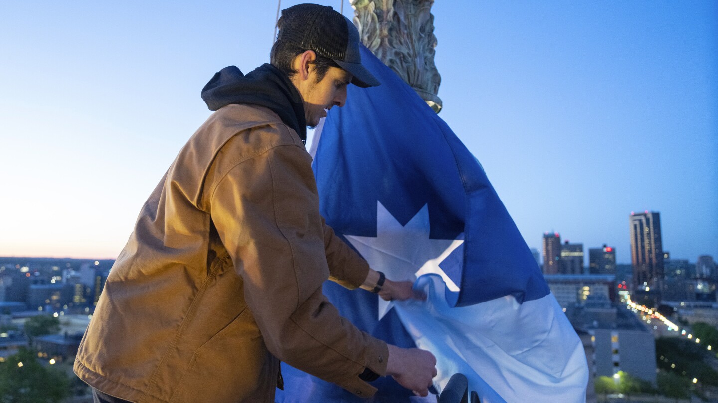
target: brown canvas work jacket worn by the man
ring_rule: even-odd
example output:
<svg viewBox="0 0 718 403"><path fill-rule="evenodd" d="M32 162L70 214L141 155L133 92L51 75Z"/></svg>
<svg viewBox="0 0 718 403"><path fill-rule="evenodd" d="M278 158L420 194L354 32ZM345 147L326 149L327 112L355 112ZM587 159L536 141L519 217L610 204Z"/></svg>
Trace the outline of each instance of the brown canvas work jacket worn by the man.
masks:
<svg viewBox="0 0 718 403"><path fill-rule="evenodd" d="M341 318L327 278L367 263L319 214L311 158L266 108L210 116L141 209L75 361L133 402L274 402L279 360L359 396L386 343ZM363 291L362 291L363 292Z"/></svg>

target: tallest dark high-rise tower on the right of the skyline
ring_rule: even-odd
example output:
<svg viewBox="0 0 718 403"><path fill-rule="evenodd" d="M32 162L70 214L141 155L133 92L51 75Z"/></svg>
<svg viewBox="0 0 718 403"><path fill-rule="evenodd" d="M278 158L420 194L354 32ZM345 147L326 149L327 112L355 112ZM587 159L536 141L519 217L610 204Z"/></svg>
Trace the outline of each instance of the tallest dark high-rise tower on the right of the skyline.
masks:
<svg viewBox="0 0 718 403"><path fill-rule="evenodd" d="M661 217L657 212L631 213L630 257L634 290L653 291L660 299L663 280Z"/></svg>

